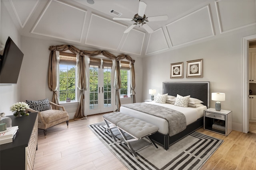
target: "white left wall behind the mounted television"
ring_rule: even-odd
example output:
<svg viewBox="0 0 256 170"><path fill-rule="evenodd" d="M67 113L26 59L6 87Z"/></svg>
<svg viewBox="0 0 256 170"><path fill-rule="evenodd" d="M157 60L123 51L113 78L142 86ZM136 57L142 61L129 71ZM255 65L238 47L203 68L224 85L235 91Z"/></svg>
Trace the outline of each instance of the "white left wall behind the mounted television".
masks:
<svg viewBox="0 0 256 170"><path fill-rule="evenodd" d="M1 14L0 14L0 51L1 55L4 50L4 46L8 36L14 41L14 43L22 50L21 47L21 37L18 33L18 29L16 29L15 25L10 18L9 13L6 11L4 3L1 1ZM3 15L4 14L4 15ZM4 26L2 26L4 25ZM22 65L23 62L22 62ZM10 111L10 106L16 102L20 101L21 94L21 74L19 75L17 84L12 85L3 85L0 84L0 113L4 112L5 115L12 115L13 113Z"/></svg>

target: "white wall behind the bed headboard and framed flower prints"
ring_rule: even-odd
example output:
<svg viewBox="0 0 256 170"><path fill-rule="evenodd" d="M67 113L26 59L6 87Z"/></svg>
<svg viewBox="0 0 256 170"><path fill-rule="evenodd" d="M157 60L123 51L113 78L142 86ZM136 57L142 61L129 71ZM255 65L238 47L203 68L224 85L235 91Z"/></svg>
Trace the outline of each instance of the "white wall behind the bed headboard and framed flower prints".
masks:
<svg viewBox="0 0 256 170"><path fill-rule="evenodd" d="M148 89L162 94L162 82L209 81L210 92L226 93L222 109L232 110L233 129L242 131L242 37L256 34L256 25L219 35L210 41L143 59L143 100ZM186 78L186 61L203 59L203 78ZM184 62L184 78L170 79L170 64ZM210 107L215 102L210 100Z"/></svg>

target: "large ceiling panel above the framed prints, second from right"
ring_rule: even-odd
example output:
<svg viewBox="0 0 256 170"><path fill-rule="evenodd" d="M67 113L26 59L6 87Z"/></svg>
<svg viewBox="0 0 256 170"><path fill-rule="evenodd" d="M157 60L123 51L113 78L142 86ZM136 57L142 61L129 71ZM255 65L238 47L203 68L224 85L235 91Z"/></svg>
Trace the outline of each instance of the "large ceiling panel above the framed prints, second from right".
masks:
<svg viewBox="0 0 256 170"><path fill-rule="evenodd" d="M166 29L173 47L213 36L215 33L210 6L200 8L166 25Z"/></svg>

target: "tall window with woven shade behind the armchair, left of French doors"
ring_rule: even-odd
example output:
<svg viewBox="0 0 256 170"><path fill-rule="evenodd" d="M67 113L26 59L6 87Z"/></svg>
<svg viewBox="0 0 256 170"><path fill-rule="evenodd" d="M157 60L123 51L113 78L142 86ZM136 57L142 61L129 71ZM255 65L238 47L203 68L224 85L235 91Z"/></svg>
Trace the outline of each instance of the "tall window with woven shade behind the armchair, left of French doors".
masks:
<svg viewBox="0 0 256 170"><path fill-rule="evenodd" d="M76 55L60 52L59 59L59 102L77 101Z"/></svg>

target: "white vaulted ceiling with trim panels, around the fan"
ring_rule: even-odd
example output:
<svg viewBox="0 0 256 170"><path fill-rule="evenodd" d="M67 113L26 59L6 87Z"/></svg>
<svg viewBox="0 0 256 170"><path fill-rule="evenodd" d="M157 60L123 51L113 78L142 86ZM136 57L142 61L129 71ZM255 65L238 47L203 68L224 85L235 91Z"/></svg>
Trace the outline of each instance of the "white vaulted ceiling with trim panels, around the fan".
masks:
<svg viewBox="0 0 256 170"><path fill-rule="evenodd" d="M147 22L154 30L151 34L138 26L124 33L134 21L112 20L133 18L139 0L1 1L21 35L138 57L256 24L255 0L142 0L147 17L168 16L166 21Z"/></svg>

